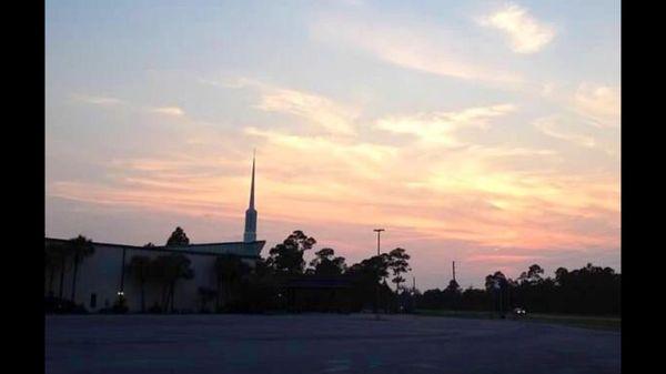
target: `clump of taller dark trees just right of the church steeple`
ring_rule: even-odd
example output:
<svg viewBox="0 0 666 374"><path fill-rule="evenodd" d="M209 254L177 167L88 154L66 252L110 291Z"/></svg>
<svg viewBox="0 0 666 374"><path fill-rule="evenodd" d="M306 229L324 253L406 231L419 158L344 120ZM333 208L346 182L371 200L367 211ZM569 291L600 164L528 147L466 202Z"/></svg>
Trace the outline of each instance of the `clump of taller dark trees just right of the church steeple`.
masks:
<svg viewBox="0 0 666 374"><path fill-rule="evenodd" d="M344 257L335 255L335 250L323 247L307 264L304 254L315 244L316 240L303 231L292 232L269 251L266 259L256 261L254 271L241 282L242 292L228 309L245 313L270 310L359 312L395 304L397 294L404 290L403 275L411 270L410 255L404 249L396 247L347 265ZM291 282L307 280L343 281L346 289L331 292L315 285L299 291L302 300L295 301ZM387 281L395 284L395 292Z"/></svg>

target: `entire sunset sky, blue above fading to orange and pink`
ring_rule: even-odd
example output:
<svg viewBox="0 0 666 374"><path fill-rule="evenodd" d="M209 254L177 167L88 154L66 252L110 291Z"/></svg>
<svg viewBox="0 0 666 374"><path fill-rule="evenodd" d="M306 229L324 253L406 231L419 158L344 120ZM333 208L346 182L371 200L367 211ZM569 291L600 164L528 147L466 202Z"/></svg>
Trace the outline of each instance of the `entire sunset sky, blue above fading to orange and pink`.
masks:
<svg viewBox="0 0 666 374"><path fill-rule="evenodd" d="M620 271L619 1L47 1L46 235ZM306 254L306 259L312 257Z"/></svg>

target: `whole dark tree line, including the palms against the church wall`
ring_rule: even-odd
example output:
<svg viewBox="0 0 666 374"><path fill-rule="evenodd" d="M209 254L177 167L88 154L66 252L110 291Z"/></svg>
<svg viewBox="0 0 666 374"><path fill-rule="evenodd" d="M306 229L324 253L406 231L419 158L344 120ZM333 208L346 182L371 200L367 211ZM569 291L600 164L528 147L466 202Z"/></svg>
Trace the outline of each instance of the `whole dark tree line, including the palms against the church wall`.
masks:
<svg viewBox="0 0 666 374"><path fill-rule="evenodd" d="M67 295L62 294L64 272L72 269L69 301L75 300L78 269L94 253L91 243L79 235L65 243L47 245L46 281L50 297L67 300ZM181 228L176 228L167 241L168 246L189 243ZM610 267L587 264L571 272L559 267L554 277L544 277L543 269L534 264L516 280L506 277L500 271L488 274L484 289L470 286L462 290L452 280L443 290L421 293L404 285L404 275L411 271L411 256L402 247L351 265L343 256L336 255L334 249L323 247L314 252L314 259L306 263L304 254L313 251L315 245L314 237L296 230L270 249L265 259L258 259L253 267L236 255L218 255L213 264L214 285L198 287L198 312L359 312L380 309L385 312L411 312L414 309L428 309L505 313L519 306L539 313L619 313L620 274ZM154 245L148 243L145 246ZM190 259L175 251L155 257L133 255L128 261L125 272L128 281L140 290L140 310L151 313L174 312L175 289L194 276ZM54 296L57 277L58 297ZM331 281L342 285L326 287L326 282ZM297 289L303 282L311 284L310 289ZM394 290L389 283L394 284ZM159 301L152 305L145 303L149 290L159 293ZM114 310L127 311L125 302L120 294Z"/></svg>

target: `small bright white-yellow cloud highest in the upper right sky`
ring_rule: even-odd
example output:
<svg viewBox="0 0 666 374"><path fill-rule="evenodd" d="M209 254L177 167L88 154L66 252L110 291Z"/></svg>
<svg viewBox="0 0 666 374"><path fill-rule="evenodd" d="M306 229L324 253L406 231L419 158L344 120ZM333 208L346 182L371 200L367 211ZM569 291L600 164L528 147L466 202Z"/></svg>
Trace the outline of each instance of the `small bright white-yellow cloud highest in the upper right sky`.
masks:
<svg viewBox="0 0 666 374"><path fill-rule="evenodd" d="M516 53L535 53L555 38L555 29L532 17L525 8L508 4L481 18L480 24L503 31Z"/></svg>

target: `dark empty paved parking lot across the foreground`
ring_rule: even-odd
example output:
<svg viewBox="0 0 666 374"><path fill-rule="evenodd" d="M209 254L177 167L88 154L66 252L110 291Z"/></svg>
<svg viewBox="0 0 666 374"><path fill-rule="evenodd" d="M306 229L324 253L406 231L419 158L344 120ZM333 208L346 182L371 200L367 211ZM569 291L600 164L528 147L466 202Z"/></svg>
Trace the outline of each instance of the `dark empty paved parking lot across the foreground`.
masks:
<svg viewBox="0 0 666 374"><path fill-rule="evenodd" d="M46 372L619 373L620 334L413 315L46 317Z"/></svg>

